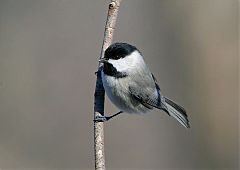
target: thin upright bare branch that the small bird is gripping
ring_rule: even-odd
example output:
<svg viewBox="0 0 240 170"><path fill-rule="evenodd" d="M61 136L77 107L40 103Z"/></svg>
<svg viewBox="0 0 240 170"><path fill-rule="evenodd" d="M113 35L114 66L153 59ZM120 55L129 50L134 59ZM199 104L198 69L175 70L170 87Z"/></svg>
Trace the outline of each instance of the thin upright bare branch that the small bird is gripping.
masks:
<svg viewBox="0 0 240 170"><path fill-rule="evenodd" d="M109 4L100 58L103 58L105 50L112 43L113 32L115 30L120 2L121 0L111 0ZM101 66L102 64L100 63L98 66L96 87L94 93L94 119L96 118L96 116L104 115L105 91L101 79ZM105 170L103 122L94 122L94 156L95 169Z"/></svg>

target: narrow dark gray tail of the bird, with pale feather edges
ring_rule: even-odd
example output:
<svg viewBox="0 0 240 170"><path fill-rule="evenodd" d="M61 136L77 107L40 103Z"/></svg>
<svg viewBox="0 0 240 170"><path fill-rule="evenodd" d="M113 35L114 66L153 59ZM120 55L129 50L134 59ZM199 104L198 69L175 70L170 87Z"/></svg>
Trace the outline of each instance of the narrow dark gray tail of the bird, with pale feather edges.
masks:
<svg viewBox="0 0 240 170"><path fill-rule="evenodd" d="M166 97L164 97L164 99L165 99L164 105L166 106L164 110L170 116L177 119L177 121L181 123L184 127L190 128L188 116L186 114L185 109Z"/></svg>

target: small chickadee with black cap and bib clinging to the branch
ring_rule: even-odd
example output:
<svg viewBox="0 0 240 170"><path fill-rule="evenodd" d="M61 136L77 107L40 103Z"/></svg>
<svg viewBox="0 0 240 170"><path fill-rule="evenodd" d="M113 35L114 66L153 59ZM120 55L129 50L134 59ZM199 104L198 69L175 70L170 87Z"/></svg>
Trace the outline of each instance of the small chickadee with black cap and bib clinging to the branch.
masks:
<svg viewBox="0 0 240 170"><path fill-rule="evenodd" d="M135 46L114 43L99 62L103 63L101 76L106 94L120 112L112 116L98 116L95 121L107 121L123 112L143 114L157 108L184 127L190 127L184 108L161 94L155 77Z"/></svg>

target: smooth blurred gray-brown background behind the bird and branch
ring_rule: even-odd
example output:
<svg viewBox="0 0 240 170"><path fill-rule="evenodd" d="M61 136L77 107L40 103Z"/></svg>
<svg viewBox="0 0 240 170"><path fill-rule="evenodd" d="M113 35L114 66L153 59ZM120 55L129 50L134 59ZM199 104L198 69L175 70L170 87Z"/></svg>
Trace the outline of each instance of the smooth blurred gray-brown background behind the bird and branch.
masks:
<svg viewBox="0 0 240 170"><path fill-rule="evenodd" d="M93 169L93 94L107 5L0 1L0 169ZM239 167L237 0L123 0L136 45L191 129L165 113L105 123L107 169ZM118 110L106 98L106 113Z"/></svg>

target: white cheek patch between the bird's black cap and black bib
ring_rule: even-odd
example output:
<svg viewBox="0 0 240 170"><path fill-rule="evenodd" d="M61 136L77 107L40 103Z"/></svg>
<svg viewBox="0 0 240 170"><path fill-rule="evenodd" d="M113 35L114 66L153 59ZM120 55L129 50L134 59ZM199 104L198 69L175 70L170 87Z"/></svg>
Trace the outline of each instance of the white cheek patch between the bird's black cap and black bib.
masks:
<svg viewBox="0 0 240 170"><path fill-rule="evenodd" d="M134 51L130 55L120 58L118 60L110 59L108 60L119 72L131 71L135 67L138 67L139 64L142 64L144 61L141 54L138 51Z"/></svg>

